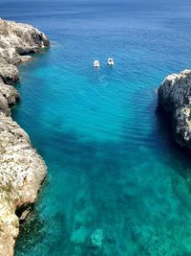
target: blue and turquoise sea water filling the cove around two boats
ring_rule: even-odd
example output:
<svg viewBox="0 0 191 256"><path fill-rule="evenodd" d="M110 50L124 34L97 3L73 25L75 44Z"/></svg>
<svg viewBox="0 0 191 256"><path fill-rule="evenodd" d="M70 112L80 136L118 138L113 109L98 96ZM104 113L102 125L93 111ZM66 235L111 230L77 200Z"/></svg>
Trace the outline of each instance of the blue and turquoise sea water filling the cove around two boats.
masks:
<svg viewBox="0 0 191 256"><path fill-rule="evenodd" d="M1 1L52 40L19 66L12 115L49 174L15 256L191 255L190 153L155 91L191 68L191 3L156 2Z"/></svg>

